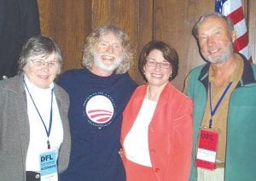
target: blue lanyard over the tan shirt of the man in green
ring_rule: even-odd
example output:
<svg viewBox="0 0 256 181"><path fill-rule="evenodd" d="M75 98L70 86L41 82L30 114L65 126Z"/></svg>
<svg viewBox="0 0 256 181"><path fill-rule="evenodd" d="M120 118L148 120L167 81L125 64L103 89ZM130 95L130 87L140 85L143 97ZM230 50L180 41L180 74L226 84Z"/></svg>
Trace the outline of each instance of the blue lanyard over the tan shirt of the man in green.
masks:
<svg viewBox="0 0 256 181"><path fill-rule="evenodd" d="M209 94L210 94L210 109L211 109L211 119L209 121L209 128L212 128L212 116L215 115L216 111L218 110L218 106L224 99L224 96L226 93L228 93L230 87L231 87L232 82L230 82L227 87L224 89L224 92L221 94L220 98L218 99L217 104L215 105L214 109L212 110L212 88L211 88L211 82L209 82Z"/></svg>

